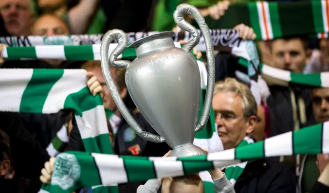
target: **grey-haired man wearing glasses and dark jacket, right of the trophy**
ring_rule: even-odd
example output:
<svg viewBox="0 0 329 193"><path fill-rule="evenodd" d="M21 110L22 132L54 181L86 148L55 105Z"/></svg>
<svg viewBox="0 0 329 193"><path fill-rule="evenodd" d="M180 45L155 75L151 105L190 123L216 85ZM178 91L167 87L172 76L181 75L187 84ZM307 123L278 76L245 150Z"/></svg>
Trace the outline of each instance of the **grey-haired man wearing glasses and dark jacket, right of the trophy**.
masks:
<svg viewBox="0 0 329 193"><path fill-rule="evenodd" d="M225 150L253 143L250 134L257 124L257 103L245 84L233 78L216 83L212 104L218 135ZM279 162L258 159L248 161L240 177L231 182L236 193L288 193L296 192L294 176L292 171Z"/></svg>

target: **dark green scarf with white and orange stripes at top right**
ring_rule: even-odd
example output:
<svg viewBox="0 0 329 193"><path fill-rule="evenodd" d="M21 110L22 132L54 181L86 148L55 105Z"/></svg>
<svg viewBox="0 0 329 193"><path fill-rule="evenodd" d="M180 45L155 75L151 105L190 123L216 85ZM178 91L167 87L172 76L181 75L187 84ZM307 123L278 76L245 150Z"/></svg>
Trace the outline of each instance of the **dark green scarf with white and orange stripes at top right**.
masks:
<svg viewBox="0 0 329 193"><path fill-rule="evenodd" d="M327 38L329 1L250 2L230 5L220 20L205 17L210 29L230 29L238 24L252 27L258 40L306 35ZM193 24L196 28L198 26Z"/></svg>

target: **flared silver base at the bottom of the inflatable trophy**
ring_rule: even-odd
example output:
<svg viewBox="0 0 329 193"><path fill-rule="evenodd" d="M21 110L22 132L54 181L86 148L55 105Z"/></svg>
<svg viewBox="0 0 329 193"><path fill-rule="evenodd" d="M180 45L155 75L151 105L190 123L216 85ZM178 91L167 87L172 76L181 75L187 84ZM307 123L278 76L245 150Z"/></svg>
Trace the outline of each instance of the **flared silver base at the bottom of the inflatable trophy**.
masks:
<svg viewBox="0 0 329 193"><path fill-rule="evenodd" d="M174 148L170 154L171 157L188 157L194 155L204 155L207 154L204 150L198 148L193 144L188 144Z"/></svg>

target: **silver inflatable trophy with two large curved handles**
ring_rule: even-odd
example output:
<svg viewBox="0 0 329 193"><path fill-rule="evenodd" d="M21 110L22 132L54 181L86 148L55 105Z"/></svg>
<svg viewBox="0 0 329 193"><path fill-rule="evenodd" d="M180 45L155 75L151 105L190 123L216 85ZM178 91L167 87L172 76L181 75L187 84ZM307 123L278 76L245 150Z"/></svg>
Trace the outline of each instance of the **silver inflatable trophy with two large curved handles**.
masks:
<svg viewBox="0 0 329 193"><path fill-rule="evenodd" d="M207 48L208 82L204 109L196 126L200 109L200 73L191 50L200 39L198 31L184 20L191 14L198 23ZM117 60L128 44L126 34L118 29L108 31L101 42L101 64L109 91L122 116L142 138L156 143L167 142L173 148L170 156L206 154L193 145L195 132L207 124L214 90L214 55L212 38L202 14L193 6L181 4L174 12L178 27L189 31L193 39L182 48L173 42L173 32L166 31L135 41L127 48L136 48L133 61ZM108 57L109 44L118 40L118 46ZM137 108L160 135L143 131L125 107L111 77L110 63L126 68L127 90Z"/></svg>

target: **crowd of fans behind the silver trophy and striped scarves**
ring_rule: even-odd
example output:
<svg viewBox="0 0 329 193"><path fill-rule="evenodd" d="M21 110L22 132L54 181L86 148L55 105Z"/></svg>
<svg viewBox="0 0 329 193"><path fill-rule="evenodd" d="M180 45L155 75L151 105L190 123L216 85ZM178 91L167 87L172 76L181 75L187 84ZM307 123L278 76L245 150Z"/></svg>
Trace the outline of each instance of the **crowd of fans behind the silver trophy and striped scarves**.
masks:
<svg viewBox="0 0 329 193"><path fill-rule="evenodd" d="M195 2L198 1L184 1L191 5ZM197 7L204 16L220 20L230 4L249 1L199 2L205 5ZM104 33L115 28L125 32L176 30L175 26L165 25L164 4L165 0L0 0L0 37L68 36ZM239 30L242 39L256 38L252 28L244 24L237 25L235 29ZM258 41L257 44L261 61L272 67L305 74L329 71L327 39L288 37ZM0 53L6 46L0 44ZM199 53L197 55L201 57ZM263 77L266 84L261 85L264 91L262 103L257 106L248 86L234 79L236 65L232 64L232 58L234 56L226 52L215 56L216 84L212 104L216 129L225 150L239 146L246 136L258 142L329 121L329 88L282 85L270 77ZM85 69L90 93L100 94L104 107L113 113L107 126L115 154L168 156L170 153L171 148L167 144L145 141L130 129L108 90L100 61L6 61L0 57L0 66ZM111 73L121 98L138 124L144 131L156 134L127 92L125 70L111 68ZM63 127L69 137L65 151L85 151L70 111L56 114L0 112L0 192L38 192L42 182L50 182L53 159L47 147ZM247 164L234 184L226 179L225 169L209 172L216 192L329 192L329 155L326 154L255 160ZM92 190L88 187L76 190L77 193L89 191ZM120 184L119 191L184 193L204 192L204 188L202 180L195 174Z"/></svg>

